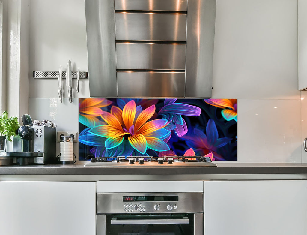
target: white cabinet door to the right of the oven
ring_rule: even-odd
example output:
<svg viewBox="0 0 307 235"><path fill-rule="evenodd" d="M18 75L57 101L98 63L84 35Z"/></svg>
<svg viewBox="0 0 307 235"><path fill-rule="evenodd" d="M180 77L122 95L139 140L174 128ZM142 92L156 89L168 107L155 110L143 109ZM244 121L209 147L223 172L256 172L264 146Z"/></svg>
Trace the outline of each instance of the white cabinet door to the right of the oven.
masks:
<svg viewBox="0 0 307 235"><path fill-rule="evenodd" d="M306 235L305 180L204 182L205 235Z"/></svg>

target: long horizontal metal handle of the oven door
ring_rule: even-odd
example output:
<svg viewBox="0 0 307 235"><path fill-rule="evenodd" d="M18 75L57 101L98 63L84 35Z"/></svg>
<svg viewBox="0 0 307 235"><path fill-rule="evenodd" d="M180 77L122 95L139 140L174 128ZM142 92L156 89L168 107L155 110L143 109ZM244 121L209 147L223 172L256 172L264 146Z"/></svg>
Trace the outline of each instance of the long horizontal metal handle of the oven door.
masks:
<svg viewBox="0 0 307 235"><path fill-rule="evenodd" d="M118 220L116 217L111 219L111 224L188 224L188 217L183 217L182 219L143 219L143 220Z"/></svg>

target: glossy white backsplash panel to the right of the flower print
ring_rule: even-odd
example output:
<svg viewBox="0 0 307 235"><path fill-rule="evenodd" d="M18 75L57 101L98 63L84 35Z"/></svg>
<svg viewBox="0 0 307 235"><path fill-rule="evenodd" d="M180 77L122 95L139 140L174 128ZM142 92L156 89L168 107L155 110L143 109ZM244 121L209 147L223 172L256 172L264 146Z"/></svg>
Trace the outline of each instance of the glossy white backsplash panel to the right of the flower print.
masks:
<svg viewBox="0 0 307 235"><path fill-rule="evenodd" d="M300 163L300 100L238 100L238 161Z"/></svg>

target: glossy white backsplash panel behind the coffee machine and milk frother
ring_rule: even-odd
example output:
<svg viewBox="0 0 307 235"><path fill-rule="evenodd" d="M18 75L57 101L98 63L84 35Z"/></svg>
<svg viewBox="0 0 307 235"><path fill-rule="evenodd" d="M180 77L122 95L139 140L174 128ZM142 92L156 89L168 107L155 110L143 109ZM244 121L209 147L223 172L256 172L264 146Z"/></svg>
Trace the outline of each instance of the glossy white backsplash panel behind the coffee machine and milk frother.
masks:
<svg viewBox="0 0 307 235"><path fill-rule="evenodd" d="M50 120L56 123L56 131L76 131L78 132L78 99L68 98L30 98L29 115L32 120ZM78 143L74 143L74 154L78 159ZM56 144L56 155L60 154L60 143Z"/></svg>

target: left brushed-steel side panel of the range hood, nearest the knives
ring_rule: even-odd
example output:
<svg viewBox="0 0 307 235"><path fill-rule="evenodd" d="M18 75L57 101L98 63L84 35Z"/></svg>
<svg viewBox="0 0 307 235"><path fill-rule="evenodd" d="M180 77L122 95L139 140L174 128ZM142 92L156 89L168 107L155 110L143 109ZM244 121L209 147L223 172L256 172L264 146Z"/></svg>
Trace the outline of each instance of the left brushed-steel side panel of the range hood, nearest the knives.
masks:
<svg viewBox="0 0 307 235"><path fill-rule="evenodd" d="M85 1L90 96L117 97L114 2Z"/></svg>

